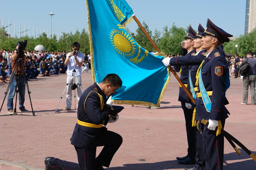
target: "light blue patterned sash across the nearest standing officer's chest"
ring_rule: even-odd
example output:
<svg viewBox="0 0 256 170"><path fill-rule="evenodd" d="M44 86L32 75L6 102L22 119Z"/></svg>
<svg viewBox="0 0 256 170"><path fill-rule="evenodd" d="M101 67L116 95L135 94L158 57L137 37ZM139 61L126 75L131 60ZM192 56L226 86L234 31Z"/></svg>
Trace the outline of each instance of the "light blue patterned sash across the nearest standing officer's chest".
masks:
<svg viewBox="0 0 256 170"><path fill-rule="evenodd" d="M200 92L202 94L202 100L204 102L204 107L205 107L207 112L210 112L212 102L209 98L209 95L207 94L207 92L205 90L204 83L203 83L203 80L202 80L201 70L202 70L202 67L200 68L198 83L199 83L199 87L200 87Z"/></svg>

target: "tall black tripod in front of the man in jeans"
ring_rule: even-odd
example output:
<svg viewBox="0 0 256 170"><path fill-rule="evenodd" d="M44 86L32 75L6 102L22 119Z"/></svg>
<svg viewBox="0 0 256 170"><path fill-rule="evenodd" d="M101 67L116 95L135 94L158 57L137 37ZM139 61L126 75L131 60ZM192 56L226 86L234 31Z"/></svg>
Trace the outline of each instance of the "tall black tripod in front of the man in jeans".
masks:
<svg viewBox="0 0 256 170"><path fill-rule="evenodd" d="M20 53L20 52L19 52ZM21 52L22 53L22 52ZM24 54L24 52L23 52L23 54ZM21 55L21 56L23 56L23 54ZM10 79L10 82L9 82L9 85L8 85L8 87L7 87L7 90L6 90L6 92L4 92L4 100L5 100L5 98L6 98L6 95L7 95L7 93L8 93L8 91L9 91L9 88L10 88L10 86L12 85L12 83L15 83L15 82L13 82L13 79L15 78L16 79L16 85L15 85L15 93L16 93L16 99L15 99L15 107L14 107L14 113L13 114L10 114L10 115L25 115L25 116L31 116L31 115L26 115L26 114L17 114L17 110L16 110L16 106L17 106L17 97L18 97L18 92L19 92L19 88L20 88L20 83L21 83L21 81L23 81L22 80L22 78L24 78L25 80L25 83L26 83L26 86L27 86L27 90L28 90L28 96L29 96L29 100L30 100L30 105L31 105L31 109L32 109L32 116L35 116L35 112L34 112L34 110L33 110L33 107L32 107L32 103L31 103L31 98L30 98L30 91L29 91L29 87L28 87L28 81L27 81L27 77L26 77L26 70L24 69L24 62L23 62L23 60L20 58L20 54L17 56L17 57L19 57L18 58L18 61L16 62L16 64L15 64L15 67L14 67L14 69L13 69L13 71L12 71L12 75L11 75L11 79ZM18 68L20 68L20 70L22 70L23 71L23 75L21 75L21 71L20 70L18 70ZM17 89L18 88L18 89ZM14 93L14 95L15 95L15 93ZM20 93L20 92L19 92ZM13 97L14 98L14 97ZM20 97L20 94L19 94L19 100L21 100L20 99L21 97ZM0 112L1 112L1 110L2 110L2 107L3 107L3 104L4 104L4 100L3 100L3 103L2 103L2 106L1 106L1 108L0 108ZM13 99L12 99L13 100ZM25 100L25 99L24 99ZM24 104L24 103L23 103ZM0 116L7 116L7 115L0 115Z"/></svg>

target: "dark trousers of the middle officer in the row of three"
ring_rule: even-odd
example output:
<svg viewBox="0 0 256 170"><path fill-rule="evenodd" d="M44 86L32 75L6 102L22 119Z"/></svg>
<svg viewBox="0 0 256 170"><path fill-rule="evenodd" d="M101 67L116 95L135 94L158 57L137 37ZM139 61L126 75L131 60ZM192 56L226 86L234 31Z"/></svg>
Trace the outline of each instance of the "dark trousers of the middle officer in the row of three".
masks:
<svg viewBox="0 0 256 170"><path fill-rule="evenodd" d="M201 123L198 124L198 128L201 129ZM196 127L196 170L206 170L204 160L204 147L203 138L201 132Z"/></svg>

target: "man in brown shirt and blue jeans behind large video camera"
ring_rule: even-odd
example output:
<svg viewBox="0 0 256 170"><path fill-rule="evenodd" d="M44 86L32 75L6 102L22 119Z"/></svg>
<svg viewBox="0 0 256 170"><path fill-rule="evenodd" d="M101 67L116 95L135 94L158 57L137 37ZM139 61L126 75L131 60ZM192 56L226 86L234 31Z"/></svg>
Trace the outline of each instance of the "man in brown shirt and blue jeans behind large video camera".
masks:
<svg viewBox="0 0 256 170"><path fill-rule="evenodd" d="M24 42L23 42L24 43ZM22 45L23 45L22 43ZM26 44L27 45L27 44ZM10 93L8 96L8 101L7 101L7 109L8 109L8 113L13 114L13 98L15 95L15 91L16 91L16 87L18 87L18 91L19 91L19 103L20 103L20 107L19 107L19 112L29 112L27 109L25 109L24 105L24 101L25 101L25 89L26 89L26 82L25 82L25 78L24 78L24 73L23 73L23 68L21 68L22 66L25 65L26 62L26 55L21 55L18 57L18 53L22 53L23 51L19 51L19 46L20 45L20 41L16 44L16 49L12 55L11 55L11 66L12 66L12 71L16 71L16 72L12 72L12 83L10 85ZM21 48L24 48L23 46ZM21 63L16 65L16 63L21 60ZM15 74L13 74L15 73ZM18 84L17 84L18 83Z"/></svg>

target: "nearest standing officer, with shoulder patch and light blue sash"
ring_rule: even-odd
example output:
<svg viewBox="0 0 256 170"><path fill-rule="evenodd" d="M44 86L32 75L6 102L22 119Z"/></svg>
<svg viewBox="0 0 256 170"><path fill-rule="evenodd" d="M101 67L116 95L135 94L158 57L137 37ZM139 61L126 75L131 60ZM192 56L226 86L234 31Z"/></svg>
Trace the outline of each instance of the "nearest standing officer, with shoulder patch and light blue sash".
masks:
<svg viewBox="0 0 256 170"><path fill-rule="evenodd" d="M224 129L229 114L224 106L228 65L217 47L221 42L228 42L228 37L232 35L214 25L210 19L207 19L206 26L202 33L202 48L207 50L207 55L199 67L195 120L201 125L206 168L222 170L224 136L220 131ZM186 58L187 63L200 63L195 59L194 56Z"/></svg>

